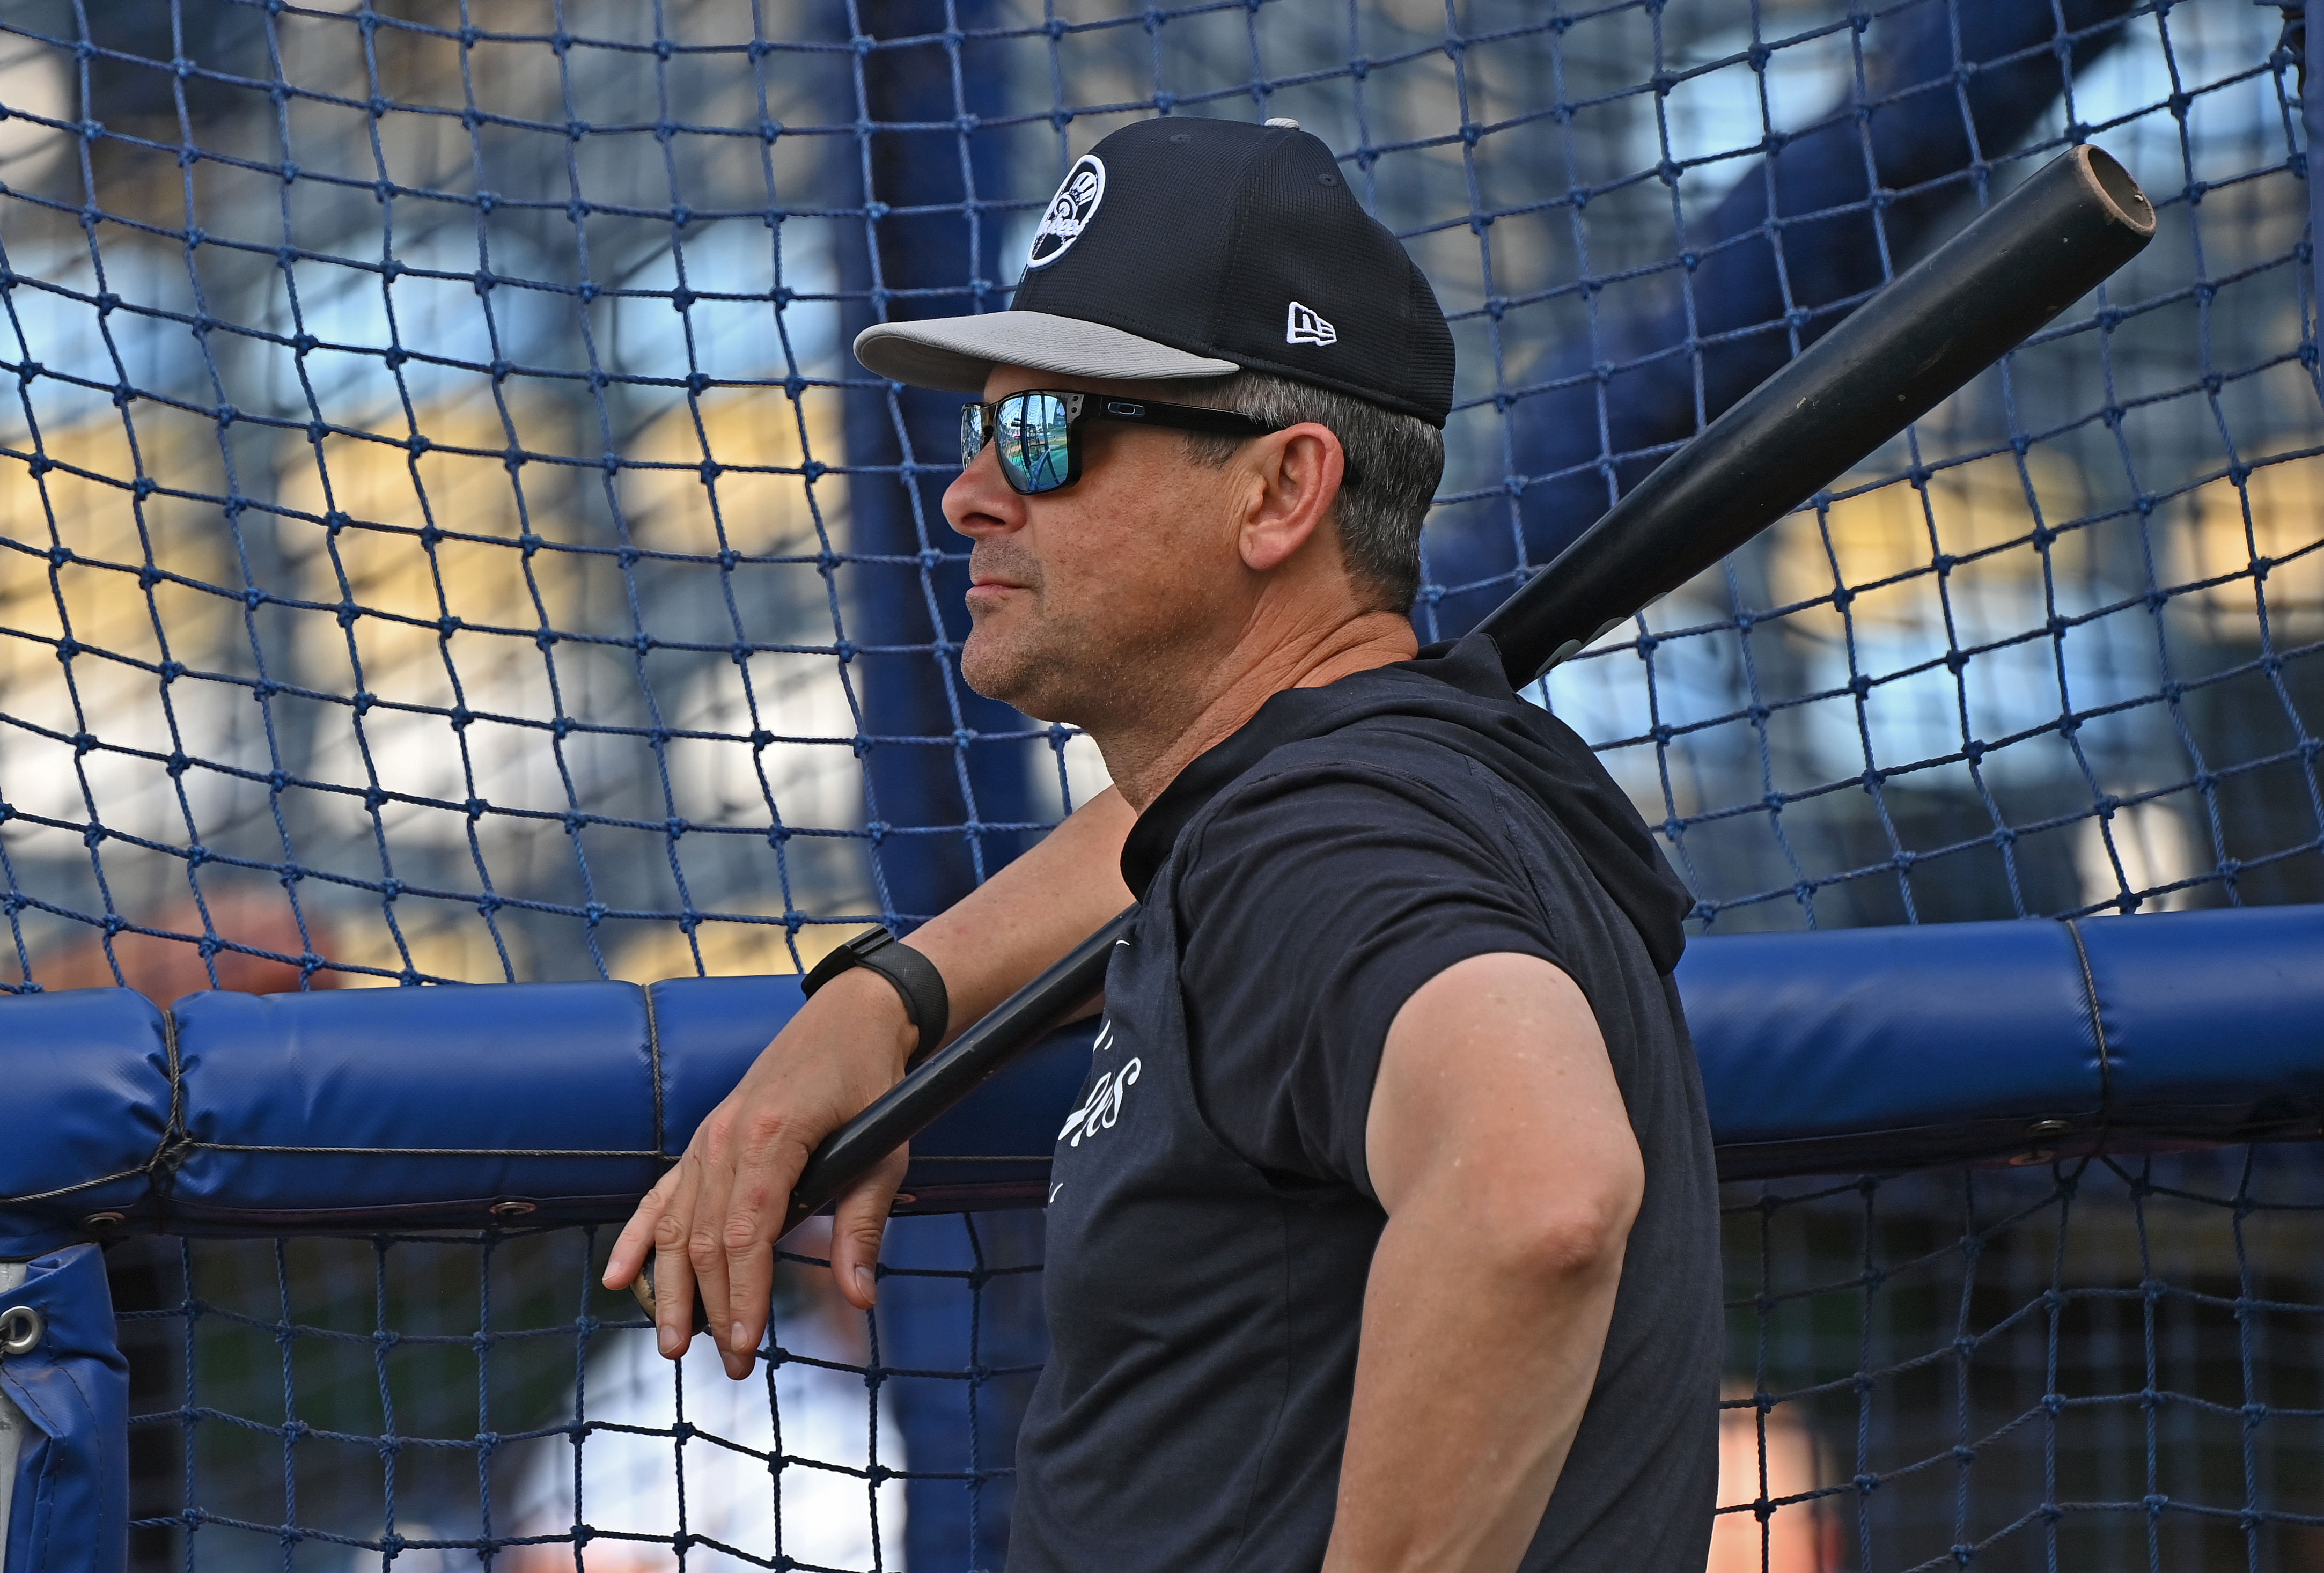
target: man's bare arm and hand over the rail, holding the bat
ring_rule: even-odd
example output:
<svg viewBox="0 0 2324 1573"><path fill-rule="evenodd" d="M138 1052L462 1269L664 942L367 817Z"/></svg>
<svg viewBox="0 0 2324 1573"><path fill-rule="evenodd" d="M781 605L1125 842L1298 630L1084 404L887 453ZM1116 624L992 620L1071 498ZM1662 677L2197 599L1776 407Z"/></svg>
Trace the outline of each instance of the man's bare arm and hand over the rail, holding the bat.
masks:
<svg viewBox="0 0 2324 1573"><path fill-rule="evenodd" d="M951 992L946 1039L1129 906L1120 860L1134 818L1120 792L1099 792L911 934ZM653 1255L662 1355L676 1359L686 1350L700 1285L727 1376L751 1373L751 1352L767 1331L774 1241L790 1187L825 1136L904 1076L916 1041L895 990L862 969L846 971L799 1006L741 1085L702 1120L686 1155L623 1227L604 1269L607 1287L621 1290ZM902 1178L899 1150L834 1208L832 1273L858 1306L871 1303L871 1266Z"/></svg>

